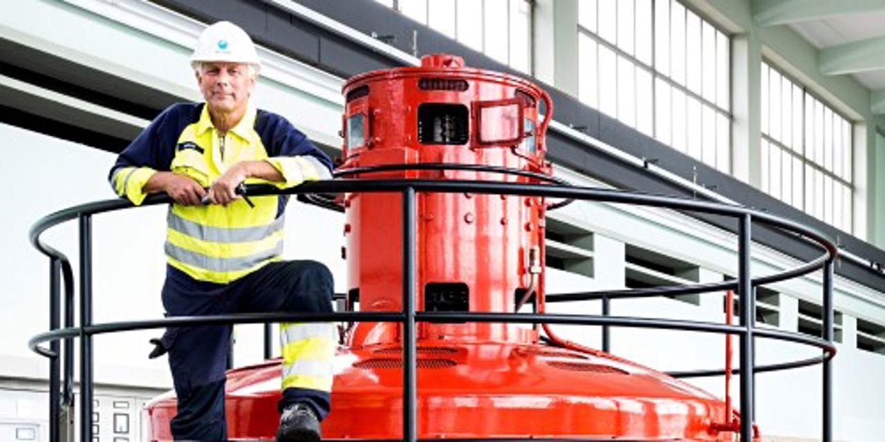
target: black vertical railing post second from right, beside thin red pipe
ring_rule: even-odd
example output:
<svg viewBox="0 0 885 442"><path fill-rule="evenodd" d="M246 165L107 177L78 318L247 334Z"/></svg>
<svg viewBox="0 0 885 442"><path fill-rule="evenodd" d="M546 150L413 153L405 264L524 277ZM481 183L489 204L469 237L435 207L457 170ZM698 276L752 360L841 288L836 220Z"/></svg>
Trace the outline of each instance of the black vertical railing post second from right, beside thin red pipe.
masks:
<svg viewBox="0 0 885 442"><path fill-rule="evenodd" d="M753 421L755 410L753 409L753 325L756 319L756 296L753 293L752 274L750 273L750 246L752 233L750 231L752 218L750 214L743 214L740 219L737 240L738 278L737 290L741 296L741 440L750 442L753 440Z"/></svg>

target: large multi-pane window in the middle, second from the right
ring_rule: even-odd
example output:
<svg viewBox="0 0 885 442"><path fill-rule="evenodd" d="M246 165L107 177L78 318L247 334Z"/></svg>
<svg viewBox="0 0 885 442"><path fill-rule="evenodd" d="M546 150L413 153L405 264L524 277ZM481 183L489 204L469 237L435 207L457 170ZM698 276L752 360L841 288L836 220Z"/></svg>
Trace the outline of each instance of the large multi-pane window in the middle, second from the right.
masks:
<svg viewBox="0 0 885 442"><path fill-rule="evenodd" d="M581 102L730 173L731 43L676 0L581 0Z"/></svg>

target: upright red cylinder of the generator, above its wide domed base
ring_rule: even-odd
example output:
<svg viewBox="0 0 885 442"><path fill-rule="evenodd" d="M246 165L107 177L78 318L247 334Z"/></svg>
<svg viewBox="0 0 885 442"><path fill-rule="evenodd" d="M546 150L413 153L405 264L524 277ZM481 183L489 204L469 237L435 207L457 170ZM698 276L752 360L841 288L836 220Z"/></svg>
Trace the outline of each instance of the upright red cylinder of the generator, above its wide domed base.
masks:
<svg viewBox="0 0 885 442"><path fill-rule="evenodd" d="M539 122L541 103L552 107L548 95L526 80L466 69L463 63L460 57L433 55L420 67L350 79L343 88L339 172L358 178L530 179L506 172L410 169L445 164L549 175L543 135L550 112ZM350 173L357 171L374 172ZM402 309L401 206L400 194L345 197L349 298L364 311ZM543 293L543 198L428 193L418 194L416 206L416 309L513 312L533 285ZM362 324L349 344L391 343L397 329ZM419 324L418 336L458 342L537 339L531 329L503 324Z"/></svg>

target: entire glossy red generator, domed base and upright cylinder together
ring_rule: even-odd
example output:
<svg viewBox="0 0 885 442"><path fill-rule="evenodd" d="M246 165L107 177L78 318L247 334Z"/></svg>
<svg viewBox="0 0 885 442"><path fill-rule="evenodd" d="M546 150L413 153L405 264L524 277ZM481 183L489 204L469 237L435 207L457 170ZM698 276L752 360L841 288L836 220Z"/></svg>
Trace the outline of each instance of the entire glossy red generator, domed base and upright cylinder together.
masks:
<svg viewBox="0 0 885 442"><path fill-rule="evenodd" d="M433 55L351 78L343 94L339 176L528 183L552 173L544 161L552 103L527 80ZM419 194L416 309L543 312L547 203ZM343 205L349 307L401 310L401 194L346 194ZM723 401L542 327L550 344L531 325L419 324L418 437L732 440ZM402 437L401 328L347 329L324 437ZM273 436L279 377L279 360L228 372L231 438ZM169 438L174 408L173 393L150 404L151 438Z"/></svg>

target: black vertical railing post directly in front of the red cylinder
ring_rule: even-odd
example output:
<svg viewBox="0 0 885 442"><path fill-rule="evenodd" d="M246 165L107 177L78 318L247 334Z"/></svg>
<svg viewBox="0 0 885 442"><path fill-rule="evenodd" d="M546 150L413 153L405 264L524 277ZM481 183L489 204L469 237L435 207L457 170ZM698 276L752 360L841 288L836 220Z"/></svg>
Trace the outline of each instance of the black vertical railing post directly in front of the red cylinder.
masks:
<svg viewBox="0 0 885 442"><path fill-rule="evenodd" d="M417 433L415 378L415 189L403 192L403 440Z"/></svg>

